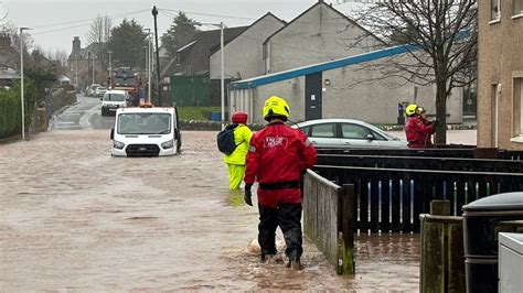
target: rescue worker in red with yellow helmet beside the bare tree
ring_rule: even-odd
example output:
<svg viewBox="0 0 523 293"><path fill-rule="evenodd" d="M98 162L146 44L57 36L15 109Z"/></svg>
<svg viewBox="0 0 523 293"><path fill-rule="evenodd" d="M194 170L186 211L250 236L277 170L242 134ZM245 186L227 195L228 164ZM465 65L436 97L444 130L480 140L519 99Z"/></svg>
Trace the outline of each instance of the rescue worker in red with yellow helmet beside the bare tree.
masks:
<svg viewBox="0 0 523 293"><path fill-rule="evenodd" d="M407 137L408 148L433 148L431 137L434 132L436 132L438 121L429 121L424 116L425 109L414 104L407 106L405 113L408 117L405 123L405 135Z"/></svg>

